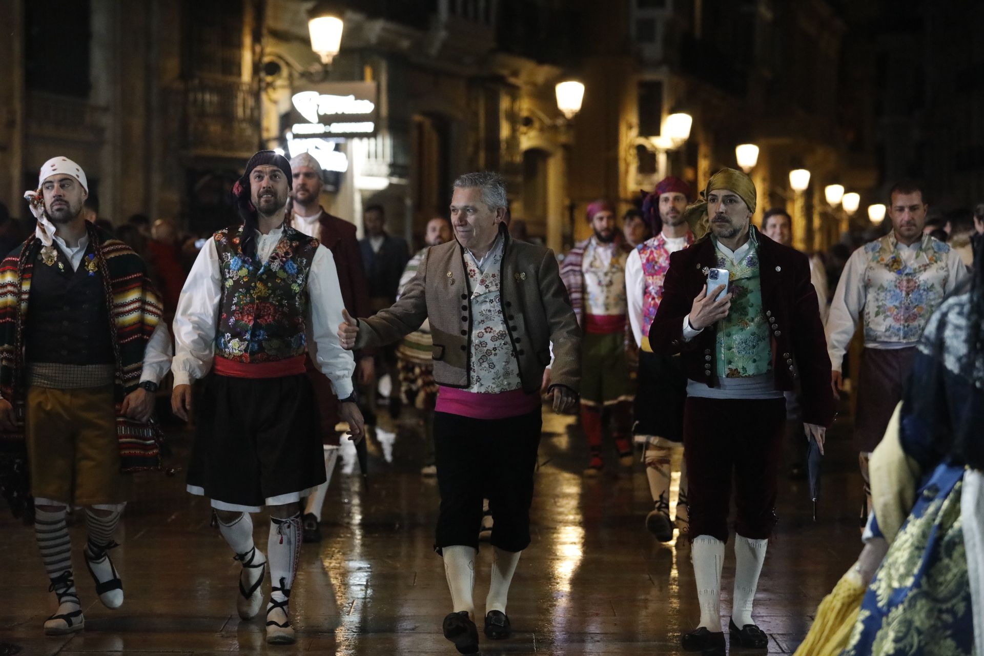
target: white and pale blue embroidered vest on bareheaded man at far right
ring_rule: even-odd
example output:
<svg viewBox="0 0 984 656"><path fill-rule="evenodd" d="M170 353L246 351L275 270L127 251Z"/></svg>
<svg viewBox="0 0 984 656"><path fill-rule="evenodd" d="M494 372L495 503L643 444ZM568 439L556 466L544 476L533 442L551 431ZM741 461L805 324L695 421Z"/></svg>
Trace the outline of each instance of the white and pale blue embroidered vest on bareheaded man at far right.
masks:
<svg viewBox="0 0 984 656"><path fill-rule="evenodd" d="M865 341L919 341L946 295L950 246L925 236L911 265L902 261L896 246L892 233L864 246L868 255Z"/></svg>

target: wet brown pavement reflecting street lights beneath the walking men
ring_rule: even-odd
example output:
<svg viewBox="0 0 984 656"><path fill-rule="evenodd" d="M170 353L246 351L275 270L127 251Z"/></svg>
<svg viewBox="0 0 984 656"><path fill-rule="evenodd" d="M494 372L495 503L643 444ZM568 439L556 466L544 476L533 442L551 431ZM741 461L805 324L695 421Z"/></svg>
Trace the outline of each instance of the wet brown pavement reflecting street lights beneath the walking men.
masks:
<svg viewBox="0 0 984 656"><path fill-rule="evenodd" d="M268 647L262 616L239 621L239 566L210 527L208 504L184 492L181 474L138 476L137 499L119 534L123 546L113 552L127 595L121 609L99 605L76 554L87 625L75 636L41 635L53 595L31 528L4 510L0 580L8 596L0 612L0 642L19 644L27 654L457 653L441 635L441 620L451 607L444 570L433 552L437 484L418 473L423 442L415 418L406 411L404 417L370 438L368 487L354 447L342 441L324 511L325 539L304 545L290 597L298 630L293 647ZM817 604L859 550L859 477L841 433L835 430L830 438L824 482L830 495L819 522L810 520L806 484L781 484L780 522L756 603L759 624L771 636L770 652L795 648ZM188 440L183 434L174 437L178 464L187 455ZM574 418L545 411L531 510L533 542L520 561L507 609L514 636L496 643L482 636L483 654L676 654L680 631L696 623L686 539L660 545L646 533L651 500L642 464L585 480L585 453ZM674 495L678 484L675 479ZM257 543L265 545L269 524L262 516L255 524ZM77 551L84 536L77 520L72 528ZM730 545L727 553L725 617L733 573ZM491 549L483 547L474 593L479 616L490 565Z"/></svg>

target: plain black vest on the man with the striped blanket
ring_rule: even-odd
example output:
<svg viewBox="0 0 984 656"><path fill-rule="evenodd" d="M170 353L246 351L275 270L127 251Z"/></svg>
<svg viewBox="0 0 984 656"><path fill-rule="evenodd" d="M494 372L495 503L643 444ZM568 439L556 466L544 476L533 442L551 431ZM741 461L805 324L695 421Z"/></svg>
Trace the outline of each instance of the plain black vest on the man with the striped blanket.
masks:
<svg viewBox="0 0 984 656"><path fill-rule="evenodd" d="M38 253L31 276L31 297L25 326L27 362L66 365L112 364L109 310L102 273L86 267L92 245L73 271L55 243L57 261L48 266ZM60 267L59 267L60 266Z"/></svg>

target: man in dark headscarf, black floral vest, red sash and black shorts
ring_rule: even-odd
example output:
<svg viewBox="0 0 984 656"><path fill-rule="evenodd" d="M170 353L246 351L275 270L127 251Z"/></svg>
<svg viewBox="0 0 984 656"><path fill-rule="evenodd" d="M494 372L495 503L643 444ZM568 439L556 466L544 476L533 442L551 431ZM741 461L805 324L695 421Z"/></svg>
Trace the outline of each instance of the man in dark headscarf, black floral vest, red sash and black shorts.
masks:
<svg viewBox="0 0 984 656"><path fill-rule="evenodd" d="M190 383L204 379L188 492L212 500L218 529L243 565L239 617L263 606L271 573L267 641L294 641L287 603L301 544L301 500L325 482L318 402L305 374L310 353L340 402L351 439L363 434L352 391L355 362L338 344L344 309L335 260L284 224L290 164L261 150L233 187L242 225L202 248L174 318L171 405L191 411ZM251 512L270 509L267 558L253 544Z"/></svg>

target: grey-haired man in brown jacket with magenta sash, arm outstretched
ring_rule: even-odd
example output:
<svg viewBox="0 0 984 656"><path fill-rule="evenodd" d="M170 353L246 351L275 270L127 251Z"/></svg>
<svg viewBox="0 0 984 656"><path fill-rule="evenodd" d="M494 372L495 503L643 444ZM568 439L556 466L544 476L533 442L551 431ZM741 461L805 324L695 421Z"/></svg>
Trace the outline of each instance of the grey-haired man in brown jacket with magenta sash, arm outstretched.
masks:
<svg viewBox="0 0 984 656"><path fill-rule="evenodd" d="M548 249L509 236L506 203L498 174L462 175L451 202L456 241L427 251L393 307L370 319L346 314L338 328L344 348L362 348L395 342L430 321L441 492L434 546L454 604L444 635L462 654L478 651L471 593L483 494L495 519L485 635L510 635L506 597L529 545L538 391L551 342L555 411L574 409L581 378L581 331L557 261Z"/></svg>

